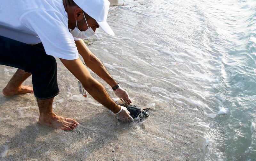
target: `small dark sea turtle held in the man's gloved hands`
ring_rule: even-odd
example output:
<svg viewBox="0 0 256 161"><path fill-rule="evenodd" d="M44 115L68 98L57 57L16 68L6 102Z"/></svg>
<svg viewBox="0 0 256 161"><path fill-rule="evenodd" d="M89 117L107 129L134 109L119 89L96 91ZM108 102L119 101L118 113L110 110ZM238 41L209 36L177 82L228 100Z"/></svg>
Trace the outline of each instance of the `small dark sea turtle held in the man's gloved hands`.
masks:
<svg viewBox="0 0 256 161"><path fill-rule="evenodd" d="M139 119L141 119L141 117L148 117L149 116L148 113L147 113L149 108L141 109L140 107L138 107L136 105L126 104L126 103L120 104L120 106L126 107L134 120L139 120Z"/></svg>

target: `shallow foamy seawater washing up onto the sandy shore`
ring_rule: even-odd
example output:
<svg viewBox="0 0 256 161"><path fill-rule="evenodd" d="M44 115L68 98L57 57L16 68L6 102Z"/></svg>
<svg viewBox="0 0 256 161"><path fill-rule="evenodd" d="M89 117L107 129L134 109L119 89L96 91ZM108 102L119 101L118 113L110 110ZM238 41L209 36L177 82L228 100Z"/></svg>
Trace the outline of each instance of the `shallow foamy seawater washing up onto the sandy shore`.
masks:
<svg viewBox="0 0 256 161"><path fill-rule="evenodd" d="M152 135L164 138L170 151L179 148L173 138L191 143L163 121L177 112L183 121L177 127L198 136L194 151L181 154L192 160L256 160L256 1L116 4L124 4L109 10L116 36L99 30L88 39L90 49L102 53L97 56L125 89L156 105L156 121L147 125Z"/></svg>

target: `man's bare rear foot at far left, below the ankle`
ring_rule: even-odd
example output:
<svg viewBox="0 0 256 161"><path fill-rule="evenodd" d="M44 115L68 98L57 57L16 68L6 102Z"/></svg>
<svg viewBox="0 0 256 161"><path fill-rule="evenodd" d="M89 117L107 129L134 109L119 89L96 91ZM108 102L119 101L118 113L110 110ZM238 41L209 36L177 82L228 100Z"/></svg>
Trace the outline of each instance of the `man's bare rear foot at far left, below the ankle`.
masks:
<svg viewBox="0 0 256 161"><path fill-rule="evenodd" d="M5 87L3 89L3 94L5 96L13 96L15 94L22 94L22 93L33 93L33 86L31 85L21 85L18 88L10 88L10 87Z"/></svg>

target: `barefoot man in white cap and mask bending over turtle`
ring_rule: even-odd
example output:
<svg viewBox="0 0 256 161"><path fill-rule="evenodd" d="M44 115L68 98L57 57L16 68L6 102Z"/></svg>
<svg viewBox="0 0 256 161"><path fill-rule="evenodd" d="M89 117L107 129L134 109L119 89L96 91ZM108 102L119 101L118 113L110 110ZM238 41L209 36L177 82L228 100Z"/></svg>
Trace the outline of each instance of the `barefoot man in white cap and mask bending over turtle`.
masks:
<svg viewBox="0 0 256 161"><path fill-rule="evenodd" d="M120 99L132 103L128 93L118 86L81 39L92 36L98 27L114 35L106 22L109 4L107 0L3 0L0 7L0 64L18 68L3 89L4 95L34 92L41 124L62 130L76 128L77 121L52 112L53 98L59 93L57 65L53 57L56 56L86 91L119 120L134 121L125 107L113 102L78 58L79 52L86 65L104 79ZM31 74L33 87L21 85Z"/></svg>

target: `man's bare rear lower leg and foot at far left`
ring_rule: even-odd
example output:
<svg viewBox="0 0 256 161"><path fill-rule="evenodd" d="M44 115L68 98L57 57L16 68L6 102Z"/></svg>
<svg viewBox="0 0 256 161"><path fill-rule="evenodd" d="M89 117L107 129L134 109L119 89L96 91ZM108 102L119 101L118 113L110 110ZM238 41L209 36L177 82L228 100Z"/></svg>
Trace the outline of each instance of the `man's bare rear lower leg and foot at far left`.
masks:
<svg viewBox="0 0 256 161"><path fill-rule="evenodd" d="M12 76L12 79L3 89L3 94L5 96L12 96L15 94L33 93L32 86L21 85L30 75L31 73L18 69L16 73Z"/></svg>

